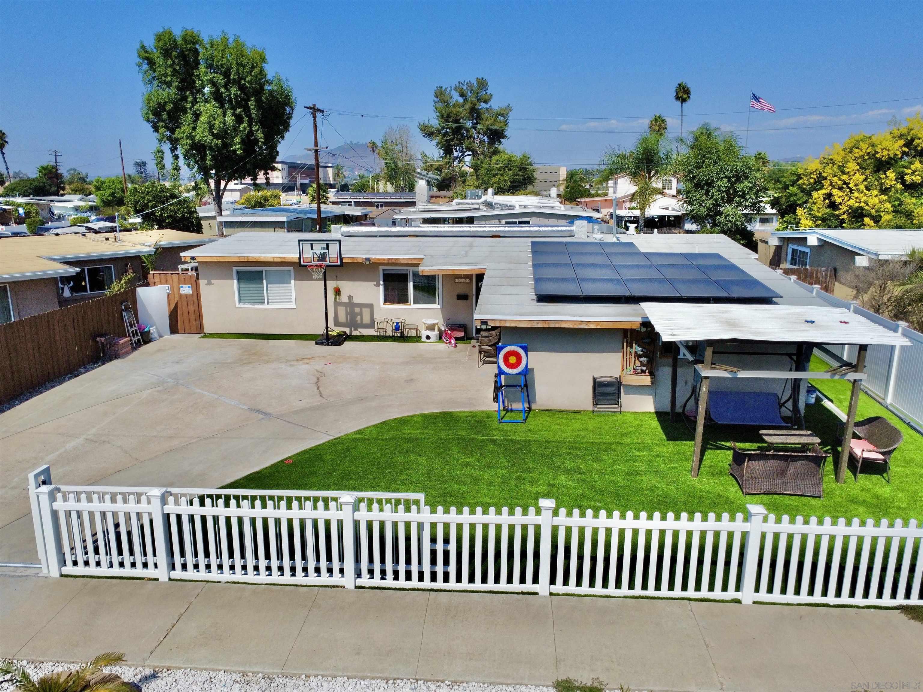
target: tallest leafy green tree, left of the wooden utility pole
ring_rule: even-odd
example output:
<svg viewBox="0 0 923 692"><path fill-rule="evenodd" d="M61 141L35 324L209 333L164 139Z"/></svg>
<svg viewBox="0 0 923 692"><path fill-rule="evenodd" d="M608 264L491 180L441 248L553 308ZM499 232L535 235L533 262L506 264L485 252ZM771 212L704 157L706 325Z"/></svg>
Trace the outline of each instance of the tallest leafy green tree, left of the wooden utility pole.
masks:
<svg viewBox="0 0 923 692"><path fill-rule="evenodd" d="M266 63L263 51L226 33L203 39L198 31L164 29L138 47L141 114L174 164L182 156L210 186L219 234L227 185L268 174L292 125L292 89L278 73L270 78ZM155 161L164 174L162 153Z"/></svg>

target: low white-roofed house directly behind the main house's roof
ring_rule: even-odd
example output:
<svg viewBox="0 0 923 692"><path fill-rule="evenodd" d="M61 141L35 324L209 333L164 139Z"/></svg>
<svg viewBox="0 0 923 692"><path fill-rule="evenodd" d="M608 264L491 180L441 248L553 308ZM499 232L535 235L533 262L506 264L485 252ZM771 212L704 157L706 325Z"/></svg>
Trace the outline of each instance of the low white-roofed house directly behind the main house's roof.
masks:
<svg viewBox="0 0 923 692"><path fill-rule="evenodd" d="M432 223L567 223L577 219L599 219L600 215L581 207L562 204L552 197L494 195L487 190L476 199L455 199L449 204L426 204L394 215L396 225L418 226Z"/></svg>

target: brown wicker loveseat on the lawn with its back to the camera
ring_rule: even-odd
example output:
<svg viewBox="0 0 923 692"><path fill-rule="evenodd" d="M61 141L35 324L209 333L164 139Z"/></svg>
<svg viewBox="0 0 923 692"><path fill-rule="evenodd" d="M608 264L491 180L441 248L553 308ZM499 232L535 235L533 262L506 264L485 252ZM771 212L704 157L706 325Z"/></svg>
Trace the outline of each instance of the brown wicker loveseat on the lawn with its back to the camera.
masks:
<svg viewBox="0 0 923 692"><path fill-rule="evenodd" d="M730 473L744 495L809 495L823 497L827 453L815 445L809 452L740 449L735 443Z"/></svg>

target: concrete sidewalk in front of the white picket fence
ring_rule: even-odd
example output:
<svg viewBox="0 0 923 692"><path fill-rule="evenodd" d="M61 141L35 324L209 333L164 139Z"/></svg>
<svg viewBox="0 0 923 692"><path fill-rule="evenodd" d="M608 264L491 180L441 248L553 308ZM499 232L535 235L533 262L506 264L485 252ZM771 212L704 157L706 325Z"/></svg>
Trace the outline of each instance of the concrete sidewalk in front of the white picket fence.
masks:
<svg viewBox="0 0 923 692"><path fill-rule="evenodd" d="M0 658L656 690L923 681L894 611L0 575Z"/></svg>

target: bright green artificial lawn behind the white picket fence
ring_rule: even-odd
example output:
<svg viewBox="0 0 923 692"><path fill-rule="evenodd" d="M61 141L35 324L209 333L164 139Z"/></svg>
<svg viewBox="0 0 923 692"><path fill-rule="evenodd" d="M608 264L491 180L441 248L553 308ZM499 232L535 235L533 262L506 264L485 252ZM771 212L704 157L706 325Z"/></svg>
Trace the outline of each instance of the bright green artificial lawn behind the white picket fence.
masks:
<svg viewBox="0 0 923 692"><path fill-rule="evenodd" d="M820 361L814 369L826 365ZM845 410L849 385L818 380ZM340 489L423 492L431 507L532 507L553 497L557 507L648 513L713 511L746 514L760 503L776 514L860 519L920 518L923 437L863 395L858 419L885 415L904 433L892 459L890 485L863 473L858 483L834 479L825 467L823 499L740 493L727 472L726 443L755 444L752 431L706 428L709 443L698 479L689 476L692 434L686 424L656 413L534 411L528 423L497 424L495 412L440 412L396 418L311 447L255 471L229 488ZM837 420L820 402L808 407L807 427L829 448ZM722 448L725 447L725 448Z"/></svg>

